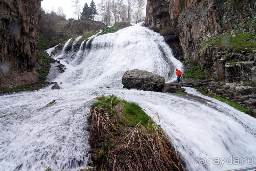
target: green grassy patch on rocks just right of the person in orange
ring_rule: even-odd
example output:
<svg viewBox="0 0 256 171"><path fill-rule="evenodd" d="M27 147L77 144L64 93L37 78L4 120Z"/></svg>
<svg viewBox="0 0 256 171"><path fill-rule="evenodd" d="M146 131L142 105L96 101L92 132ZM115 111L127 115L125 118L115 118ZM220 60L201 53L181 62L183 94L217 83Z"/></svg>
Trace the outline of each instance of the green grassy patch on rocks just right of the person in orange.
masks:
<svg viewBox="0 0 256 171"><path fill-rule="evenodd" d="M194 79L208 79L211 78L210 74L204 74L204 69L201 65L188 67L185 71L184 78L194 78Z"/></svg>

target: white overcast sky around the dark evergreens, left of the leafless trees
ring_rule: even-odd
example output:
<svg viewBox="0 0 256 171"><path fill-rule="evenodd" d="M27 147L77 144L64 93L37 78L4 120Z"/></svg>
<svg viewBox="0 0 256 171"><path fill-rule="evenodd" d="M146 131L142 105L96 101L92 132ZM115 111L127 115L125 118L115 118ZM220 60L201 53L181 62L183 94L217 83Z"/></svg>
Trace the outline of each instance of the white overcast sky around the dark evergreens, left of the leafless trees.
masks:
<svg viewBox="0 0 256 171"><path fill-rule="evenodd" d="M96 8L98 9L97 4L100 3L100 0L93 0L93 1L96 5ZM84 4L87 3L88 6L90 6L91 2L92 0L80 0L81 12L82 12L82 8L84 7ZM75 9L72 7L72 0L43 0L41 5L41 7L43 7L46 12L52 11L52 7L54 7L55 12L57 12L59 6L64 9L67 19L69 18L77 19L77 16L73 14L73 11Z"/></svg>

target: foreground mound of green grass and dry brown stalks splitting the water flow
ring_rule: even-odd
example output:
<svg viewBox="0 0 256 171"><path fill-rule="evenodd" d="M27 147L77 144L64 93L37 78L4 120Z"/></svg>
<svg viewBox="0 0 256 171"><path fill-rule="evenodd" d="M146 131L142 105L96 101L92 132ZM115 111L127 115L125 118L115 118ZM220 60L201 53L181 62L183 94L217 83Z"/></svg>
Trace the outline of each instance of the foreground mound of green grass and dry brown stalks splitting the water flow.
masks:
<svg viewBox="0 0 256 171"><path fill-rule="evenodd" d="M161 126L139 105L114 95L97 99L88 117L91 148L98 151L91 166L97 170L115 168L117 171L184 170Z"/></svg>

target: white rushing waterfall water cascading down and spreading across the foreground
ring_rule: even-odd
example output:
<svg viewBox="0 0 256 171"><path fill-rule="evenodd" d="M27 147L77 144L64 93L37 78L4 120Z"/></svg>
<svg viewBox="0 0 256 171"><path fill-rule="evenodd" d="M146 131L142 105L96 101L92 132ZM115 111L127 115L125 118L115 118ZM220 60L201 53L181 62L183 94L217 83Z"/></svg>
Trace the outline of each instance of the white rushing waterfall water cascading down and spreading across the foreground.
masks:
<svg viewBox="0 0 256 171"><path fill-rule="evenodd" d="M86 118L81 117L89 113L95 97L111 94L138 103L151 117L158 112L166 134L179 146L188 171L256 165L255 118L191 88L186 88L188 95L122 88L121 78L130 69L159 74L166 82L176 80L174 69L182 70L182 64L158 33L137 24L94 37L90 50L80 49L78 56L74 55L78 52L70 54L75 58L61 59L68 56L62 52L54 58L65 64L66 71L50 73L47 78L58 82L62 89L49 86L0 96L0 171L86 167L89 133ZM54 99L56 104L47 105ZM232 164L228 164L231 156ZM207 163L200 166L203 157ZM225 159L223 164L216 163L220 158Z"/></svg>

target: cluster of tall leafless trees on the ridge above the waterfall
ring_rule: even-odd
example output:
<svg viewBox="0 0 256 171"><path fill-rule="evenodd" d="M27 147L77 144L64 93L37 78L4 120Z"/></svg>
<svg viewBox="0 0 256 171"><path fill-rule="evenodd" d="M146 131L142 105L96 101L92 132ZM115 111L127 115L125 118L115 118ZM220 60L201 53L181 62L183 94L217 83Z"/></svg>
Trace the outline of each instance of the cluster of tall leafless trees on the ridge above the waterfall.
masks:
<svg viewBox="0 0 256 171"><path fill-rule="evenodd" d="M116 22L138 23L145 19L146 0L101 0L98 4L99 20L107 26Z"/></svg>

